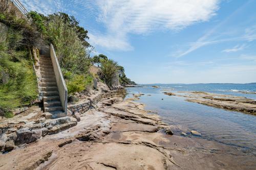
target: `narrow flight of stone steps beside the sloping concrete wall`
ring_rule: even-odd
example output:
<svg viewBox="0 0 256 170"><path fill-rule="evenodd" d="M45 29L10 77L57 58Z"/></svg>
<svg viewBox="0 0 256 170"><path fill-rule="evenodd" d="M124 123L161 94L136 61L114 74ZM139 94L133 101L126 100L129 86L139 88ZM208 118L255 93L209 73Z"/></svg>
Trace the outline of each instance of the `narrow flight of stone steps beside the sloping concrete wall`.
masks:
<svg viewBox="0 0 256 170"><path fill-rule="evenodd" d="M65 116L60 102L51 57L40 55L39 64L41 72L41 93L46 118Z"/></svg>

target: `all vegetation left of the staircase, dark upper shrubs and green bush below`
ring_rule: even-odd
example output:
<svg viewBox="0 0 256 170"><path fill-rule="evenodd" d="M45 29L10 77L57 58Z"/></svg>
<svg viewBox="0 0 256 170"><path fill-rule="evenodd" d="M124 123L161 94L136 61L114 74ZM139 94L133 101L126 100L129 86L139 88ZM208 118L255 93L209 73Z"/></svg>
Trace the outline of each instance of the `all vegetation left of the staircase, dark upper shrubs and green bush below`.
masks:
<svg viewBox="0 0 256 170"><path fill-rule="evenodd" d="M26 20L1 13L8 32L0 35L0 115L12 117L12 109L30 105L37 98L37 81L29 57L36 42L35 29Z"/></svg>

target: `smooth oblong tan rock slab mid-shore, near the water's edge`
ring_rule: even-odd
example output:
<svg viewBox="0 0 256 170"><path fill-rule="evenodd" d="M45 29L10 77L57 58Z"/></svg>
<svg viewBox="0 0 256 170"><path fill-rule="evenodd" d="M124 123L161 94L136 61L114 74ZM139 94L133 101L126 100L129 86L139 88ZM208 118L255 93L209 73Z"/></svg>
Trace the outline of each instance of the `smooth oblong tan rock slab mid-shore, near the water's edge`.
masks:
<svg viewBox="0 0 256 170"><path fill-rule="evenodd" d="M117 123L112 128L111 131L122 131L122 132L129 132L129 131L140 131L140 132L157 132L158 129L152 125L145 125L145 124L136 124L136 123Z"/></svg>

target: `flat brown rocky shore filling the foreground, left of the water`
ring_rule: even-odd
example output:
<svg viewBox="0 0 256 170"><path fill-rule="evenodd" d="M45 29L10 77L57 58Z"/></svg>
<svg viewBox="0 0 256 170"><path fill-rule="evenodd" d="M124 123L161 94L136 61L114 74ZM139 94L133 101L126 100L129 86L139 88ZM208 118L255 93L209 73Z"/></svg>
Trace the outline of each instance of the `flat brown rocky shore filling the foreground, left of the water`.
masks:
<svg viewBox="0 0 256 170"><path fill-rule="evenodd" d="M56 133L48 131L34 142L17 145L0 156L0 169L253 169L256 166L255 155L200 137L175 134L157 114L149 114L143 104L135 102L141 95L123 101L120 93L108 93L80 115L80 122L69 116L51 120L62 123L62 119L69 119L76 125ZM47 121L44 124L48 129L52 123Z"/></svg>

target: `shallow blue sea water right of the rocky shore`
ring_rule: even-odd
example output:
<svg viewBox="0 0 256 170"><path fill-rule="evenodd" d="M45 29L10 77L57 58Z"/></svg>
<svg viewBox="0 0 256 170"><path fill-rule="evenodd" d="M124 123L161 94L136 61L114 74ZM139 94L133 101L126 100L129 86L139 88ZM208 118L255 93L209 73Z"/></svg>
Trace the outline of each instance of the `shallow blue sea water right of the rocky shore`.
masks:
<svg viewBox="0 0 256 170"><path fill-rule="evenodd" d="M153 88L158 85L160 88ZM176 134L196 130L202 138L233 145L244 152L256 154L256 116L236 111L209 107L184 101L180 96L168 96L163 91L206 91L220 94L245 96L255 99L256 84L151 84L127 88L130 98L134 93L144 93L138 102L145 109L156 111L164 122L178 127ZM162 100L163 99L163 100ZM194 136L190 136L194 137Z"/></svg>

